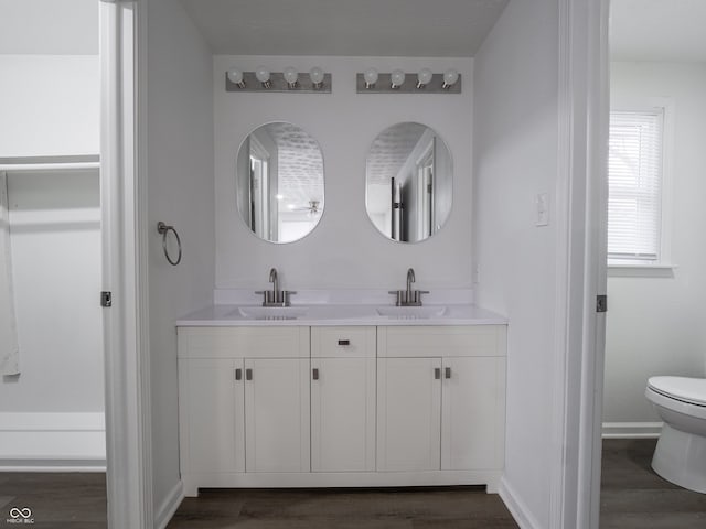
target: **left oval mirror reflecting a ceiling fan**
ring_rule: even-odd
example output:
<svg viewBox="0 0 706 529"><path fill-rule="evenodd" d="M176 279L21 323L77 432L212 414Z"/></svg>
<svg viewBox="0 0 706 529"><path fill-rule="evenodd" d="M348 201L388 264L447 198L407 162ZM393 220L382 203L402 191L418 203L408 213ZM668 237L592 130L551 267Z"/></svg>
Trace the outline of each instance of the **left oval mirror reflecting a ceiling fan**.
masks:
<svg viewBox="0 0 706 529"><path fill-rule="evenodd" d="M263 125L240 144L236 162L240 218L258 237L291 242L317 227L323 213L323 156L296 125Z"/></svg>

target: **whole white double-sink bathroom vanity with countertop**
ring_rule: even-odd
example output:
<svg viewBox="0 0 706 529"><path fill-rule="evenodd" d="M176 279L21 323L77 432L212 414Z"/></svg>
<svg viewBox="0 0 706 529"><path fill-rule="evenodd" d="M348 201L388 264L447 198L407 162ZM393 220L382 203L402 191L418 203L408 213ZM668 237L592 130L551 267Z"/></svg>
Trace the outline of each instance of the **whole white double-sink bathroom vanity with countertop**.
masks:
<svg viewBox="0 0 706 529"><path fill-rule="evenodd" d="M199 487L496 490L502 316L473 305L216 305L179 321L178 336L186 496Z"/></svg>

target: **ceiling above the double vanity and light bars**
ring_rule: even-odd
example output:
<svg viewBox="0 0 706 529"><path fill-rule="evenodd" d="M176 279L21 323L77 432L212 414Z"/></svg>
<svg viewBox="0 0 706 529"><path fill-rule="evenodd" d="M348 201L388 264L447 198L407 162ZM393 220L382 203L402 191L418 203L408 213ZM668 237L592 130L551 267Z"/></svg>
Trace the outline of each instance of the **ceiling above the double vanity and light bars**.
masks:
<svg viewBox="0 0 706 529"><path fill-rule="evenodd" d="M182 0L215 54L469 57L509 0Z"/></svg>

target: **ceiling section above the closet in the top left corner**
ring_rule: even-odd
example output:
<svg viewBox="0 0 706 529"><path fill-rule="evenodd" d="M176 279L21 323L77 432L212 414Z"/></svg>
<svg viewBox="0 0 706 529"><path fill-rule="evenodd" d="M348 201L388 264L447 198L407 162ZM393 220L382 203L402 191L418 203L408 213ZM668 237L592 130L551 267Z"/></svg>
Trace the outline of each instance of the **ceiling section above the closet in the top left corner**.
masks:
<svg viewBox="0 0 706 529"><path fill-rule="evenodd" d="M98 0L0 0L0 54L97 55Z"/></svg>

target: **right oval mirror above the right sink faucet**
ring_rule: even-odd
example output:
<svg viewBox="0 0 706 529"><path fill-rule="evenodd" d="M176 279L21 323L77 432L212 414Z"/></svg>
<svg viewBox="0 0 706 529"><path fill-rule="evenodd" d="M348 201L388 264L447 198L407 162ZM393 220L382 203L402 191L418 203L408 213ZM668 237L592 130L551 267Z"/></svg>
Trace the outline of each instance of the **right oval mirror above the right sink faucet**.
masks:
<svg viewBox="0 0 706 529"><path fill-rule="evenodd" d="M367 216L392 240L425 240L451 213L452 181L451 153L434 129L394 125L375 138L367 153Z"/></svg>

